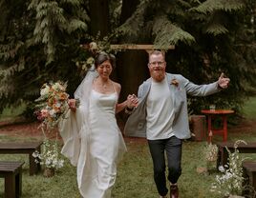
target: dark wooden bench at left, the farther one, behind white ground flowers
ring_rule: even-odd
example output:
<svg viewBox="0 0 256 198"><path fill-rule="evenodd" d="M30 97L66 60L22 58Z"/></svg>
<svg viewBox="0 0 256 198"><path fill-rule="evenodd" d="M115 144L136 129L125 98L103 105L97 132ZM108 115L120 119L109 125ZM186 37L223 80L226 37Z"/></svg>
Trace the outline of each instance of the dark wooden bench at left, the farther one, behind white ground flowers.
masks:
<svg viewBox="0 0 256 198"><path fill-rule="evenodd" d="M11 153L25 153L30 156L30 175L37 173L41 166L39 163L35 163L35 159L32 153L35 150L40 152L40 146L42 142L24 142L24 143L0 143L0 154L11 154Z"/></svg>

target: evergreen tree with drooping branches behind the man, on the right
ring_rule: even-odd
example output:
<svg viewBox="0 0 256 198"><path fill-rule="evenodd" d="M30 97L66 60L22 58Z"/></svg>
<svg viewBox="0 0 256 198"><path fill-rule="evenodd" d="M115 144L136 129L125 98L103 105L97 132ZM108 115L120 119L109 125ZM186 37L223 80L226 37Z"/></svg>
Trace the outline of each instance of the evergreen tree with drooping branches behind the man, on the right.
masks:
<svg viewBox="0 0 256 198"><path fill-rule="evenodd" d="M249 2L252 1L142 0L117 31L122 37L146 37L156 49L175 45L176 49L166 54L167 71L181 73L194 83L216 81L221 72L231 78L229 89L219 94L190 98L191 112L200 113L211 103L239 110L255 86L255 50L246 48L255 42L255 32L254 38L243 41L245 33L251 31L245 25L247 12L255 10Z"/></svg>

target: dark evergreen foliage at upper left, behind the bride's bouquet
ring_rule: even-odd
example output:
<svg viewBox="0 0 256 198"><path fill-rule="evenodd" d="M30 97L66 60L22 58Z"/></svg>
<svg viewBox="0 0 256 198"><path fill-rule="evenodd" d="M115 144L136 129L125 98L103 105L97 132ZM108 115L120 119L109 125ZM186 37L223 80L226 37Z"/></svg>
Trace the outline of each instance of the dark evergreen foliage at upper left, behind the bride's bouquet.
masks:
<svg viewBox="0 0 256 198"><path fill-rule="evenodd" d="M83 1L0 1L0 111L31 102L46 82L71 82L79 76L75 62L84 59L80 39L89 17ZM73 83L75 82L75 83Z"/></svg>

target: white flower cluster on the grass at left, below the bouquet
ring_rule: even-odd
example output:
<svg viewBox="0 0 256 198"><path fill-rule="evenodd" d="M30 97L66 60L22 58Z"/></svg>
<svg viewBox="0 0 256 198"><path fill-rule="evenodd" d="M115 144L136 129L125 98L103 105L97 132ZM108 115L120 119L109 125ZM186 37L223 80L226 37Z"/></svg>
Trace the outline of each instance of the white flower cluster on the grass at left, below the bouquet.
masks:
<svg viewBox="0 0 256 198"><path fill-rule="evenodd" d="M60 157L61 155L59 154L56 141L46 139L41 146L41 152L36 150L32 153L32 156L35 158L36 163L40 163L45 168L62 168L64 164L64 160Z"/></svg>

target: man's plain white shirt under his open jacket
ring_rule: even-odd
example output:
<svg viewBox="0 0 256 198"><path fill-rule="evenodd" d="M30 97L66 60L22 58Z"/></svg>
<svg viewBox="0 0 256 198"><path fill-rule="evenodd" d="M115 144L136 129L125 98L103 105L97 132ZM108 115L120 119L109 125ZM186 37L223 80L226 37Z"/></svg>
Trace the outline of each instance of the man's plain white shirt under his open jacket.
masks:
<svg viewBox="0 0 256 198"><path fill-rule="evenodd" d="M146 136L148 140L167 139L173 136L173 101L167 79L156 82L152 79L146 101Z"/></svg>

